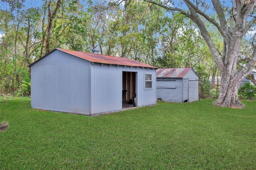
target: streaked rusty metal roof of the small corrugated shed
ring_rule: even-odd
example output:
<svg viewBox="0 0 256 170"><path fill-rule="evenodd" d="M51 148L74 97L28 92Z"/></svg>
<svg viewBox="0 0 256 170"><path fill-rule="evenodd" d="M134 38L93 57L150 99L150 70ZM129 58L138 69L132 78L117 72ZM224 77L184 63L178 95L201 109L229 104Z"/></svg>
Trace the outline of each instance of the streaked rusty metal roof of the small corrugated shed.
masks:
<svg viewBox="0 0 256 170"><path fill-rule="evenodd" d="M192 69L188 68L159 68L156 70L157 78L184 78L184 76Z"/></svg>

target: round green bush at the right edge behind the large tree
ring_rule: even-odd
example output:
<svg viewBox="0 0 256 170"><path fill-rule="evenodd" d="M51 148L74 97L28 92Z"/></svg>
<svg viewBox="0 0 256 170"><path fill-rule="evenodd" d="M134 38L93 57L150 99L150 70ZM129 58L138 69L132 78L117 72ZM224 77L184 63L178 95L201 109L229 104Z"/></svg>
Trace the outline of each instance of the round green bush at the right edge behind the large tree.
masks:
<svg viewBox="0 0 256 170"><path fill-rule="evenodd" d="M245 82L244 86L238 89L238 97L240 99L256 99L256 86L251 85L250 82Z"/></svg>

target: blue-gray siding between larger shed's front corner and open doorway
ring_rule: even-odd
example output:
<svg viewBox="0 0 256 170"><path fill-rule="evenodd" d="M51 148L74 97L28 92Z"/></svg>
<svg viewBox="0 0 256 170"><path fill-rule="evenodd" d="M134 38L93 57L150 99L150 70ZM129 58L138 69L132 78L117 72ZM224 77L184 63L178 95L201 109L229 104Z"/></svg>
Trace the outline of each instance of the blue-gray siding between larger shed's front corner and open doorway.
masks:
<svg viewBox="0 0 256 170"><path fill-rule="evenodd" d="M92 114L122 109L122 70L108 64L93 65Z"/></svg>

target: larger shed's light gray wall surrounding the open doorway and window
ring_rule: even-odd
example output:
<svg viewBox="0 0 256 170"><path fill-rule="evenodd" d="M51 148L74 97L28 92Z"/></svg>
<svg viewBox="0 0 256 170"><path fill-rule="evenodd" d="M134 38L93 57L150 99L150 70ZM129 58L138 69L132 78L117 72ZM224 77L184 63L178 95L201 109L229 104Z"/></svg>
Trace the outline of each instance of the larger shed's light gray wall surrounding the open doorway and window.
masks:
<svg viewBox="0 0 256 170"><path fill-rule="evenodd" d="M137 106L156 104L156 69L92 64L91 113L108 113L122 110L122 72L136 72ZM152 74L152 89L144 89L144 74Z"/></svg>

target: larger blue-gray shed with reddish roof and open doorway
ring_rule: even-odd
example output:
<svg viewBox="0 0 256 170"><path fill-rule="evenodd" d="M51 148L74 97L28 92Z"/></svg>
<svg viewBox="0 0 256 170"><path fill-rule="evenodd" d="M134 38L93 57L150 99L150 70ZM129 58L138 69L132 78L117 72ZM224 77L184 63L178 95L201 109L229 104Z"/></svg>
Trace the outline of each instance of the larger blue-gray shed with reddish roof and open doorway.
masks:
<svg viewBox="0 0 256 170"><path fill-rule="evenodd" d="M94 115L156 104L156 67L127 58L54 49L31 68L31 106ZM124 95L123 95L123 92Z"/></svg>

